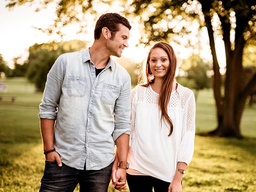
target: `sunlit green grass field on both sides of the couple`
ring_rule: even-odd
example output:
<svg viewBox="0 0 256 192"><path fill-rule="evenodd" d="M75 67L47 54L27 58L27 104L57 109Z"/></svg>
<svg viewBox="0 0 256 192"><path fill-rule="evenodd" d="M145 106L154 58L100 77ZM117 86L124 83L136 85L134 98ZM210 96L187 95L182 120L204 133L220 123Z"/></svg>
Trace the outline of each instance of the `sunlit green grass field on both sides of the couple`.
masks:
<svg viewBox="0 0 256 192"><path fill-rule="evenodd" d="M38 191L44 169L38 105L42 93L24 78L4 81L16 96L0 102L0 191ZM216 126L211 90L199 92L196 133ZM256 191L256 106L246 107L241 124L243 140L196 135L195 152L183 179L183 191ZM75 191L78 191L76 188ZM110 191L115 191L109 188ZM128 192L129 190L123 190Z"/></svg>

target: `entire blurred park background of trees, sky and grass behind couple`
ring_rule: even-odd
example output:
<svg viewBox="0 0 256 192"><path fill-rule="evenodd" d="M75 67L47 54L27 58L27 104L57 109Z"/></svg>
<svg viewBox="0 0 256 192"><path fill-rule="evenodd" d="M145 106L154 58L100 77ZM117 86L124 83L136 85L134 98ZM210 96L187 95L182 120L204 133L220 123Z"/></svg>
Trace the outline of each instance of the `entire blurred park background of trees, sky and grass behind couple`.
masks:
<svg viewBox="0 0 256 192"><path fill-rule="evenodd" d="M129 47L113 57L132 87L148 42L162 39L177 55L177 82L195 93L195 152L183 191L256 191L251 0L0 1L0 191L38 191L44 155L37 115L47 73L60 54L92 45L95 22L106 12L132 26Z"/></svg>

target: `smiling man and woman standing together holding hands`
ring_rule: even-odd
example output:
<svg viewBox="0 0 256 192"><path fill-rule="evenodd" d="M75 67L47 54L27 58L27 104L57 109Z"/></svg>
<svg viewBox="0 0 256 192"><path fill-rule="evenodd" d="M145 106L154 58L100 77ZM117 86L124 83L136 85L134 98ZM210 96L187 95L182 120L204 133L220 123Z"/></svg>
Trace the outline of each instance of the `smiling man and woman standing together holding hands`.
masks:
<svg viewBox="0 0 256 192"><path fill-rule="evenodd" d="M129 74L110 58L128 47L130 29L117 13L101 15L92 46L60 55L49 71L39 105L40 192L71 192L78 183L80 191L107 192L110 179L120 191L182 191L195 97L175 81L177 59L165 42L152 45L131 91Z"/></svg>

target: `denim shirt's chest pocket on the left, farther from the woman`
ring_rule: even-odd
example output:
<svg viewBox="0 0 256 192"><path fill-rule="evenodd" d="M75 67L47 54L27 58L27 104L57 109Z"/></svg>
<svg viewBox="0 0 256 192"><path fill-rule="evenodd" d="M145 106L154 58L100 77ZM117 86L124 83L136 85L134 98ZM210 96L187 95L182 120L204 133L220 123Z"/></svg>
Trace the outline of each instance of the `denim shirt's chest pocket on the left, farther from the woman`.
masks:
<svg viewBox="0 0 256 192"><path fill-rule="evenodd" d="M86 77L68 76L68 95L71 97L84 97L87 87Z"/></svg>

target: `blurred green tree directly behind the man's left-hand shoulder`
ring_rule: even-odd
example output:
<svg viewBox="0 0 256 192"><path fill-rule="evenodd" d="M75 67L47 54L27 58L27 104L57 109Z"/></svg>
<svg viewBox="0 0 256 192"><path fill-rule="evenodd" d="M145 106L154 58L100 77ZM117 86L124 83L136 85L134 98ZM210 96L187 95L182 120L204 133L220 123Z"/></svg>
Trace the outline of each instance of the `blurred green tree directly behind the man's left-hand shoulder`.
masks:
<svg viewBox="0 0 256 192"><path fill-rule="evenodd" d="M37 91L44 91L47 74L58 56L62 53L82 50L86 44L87 42L72 40L32 45L29 47L26 74L28 80L36 85Z"/></svg>

